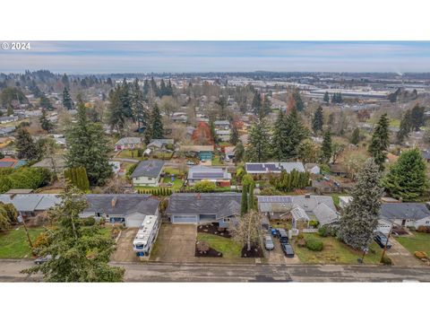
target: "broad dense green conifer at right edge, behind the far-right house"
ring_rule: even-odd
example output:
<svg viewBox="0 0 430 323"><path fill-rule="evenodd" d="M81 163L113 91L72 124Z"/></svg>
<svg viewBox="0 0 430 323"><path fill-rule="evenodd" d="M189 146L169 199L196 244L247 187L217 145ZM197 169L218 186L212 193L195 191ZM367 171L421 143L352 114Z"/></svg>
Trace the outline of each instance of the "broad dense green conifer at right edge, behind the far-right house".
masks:
<svg viewBox="0 0 430 323"><path fill-rule="evenodd" d="M391 196L405 201L419 201L425 195L429 187L426 162L417 148L400 154L383 179L383 186Z"/></svg>

